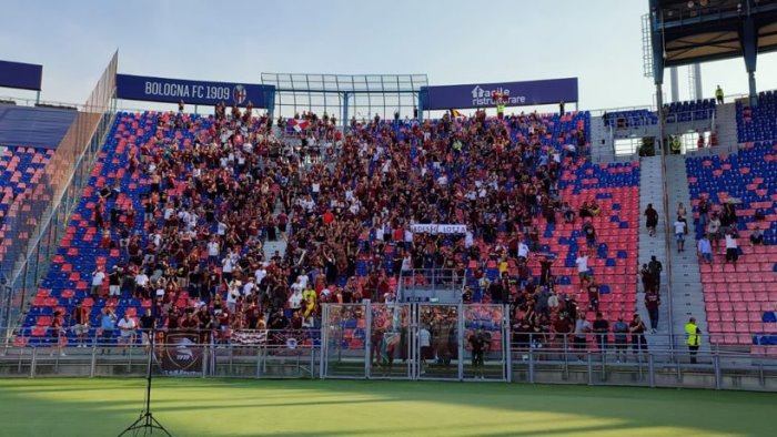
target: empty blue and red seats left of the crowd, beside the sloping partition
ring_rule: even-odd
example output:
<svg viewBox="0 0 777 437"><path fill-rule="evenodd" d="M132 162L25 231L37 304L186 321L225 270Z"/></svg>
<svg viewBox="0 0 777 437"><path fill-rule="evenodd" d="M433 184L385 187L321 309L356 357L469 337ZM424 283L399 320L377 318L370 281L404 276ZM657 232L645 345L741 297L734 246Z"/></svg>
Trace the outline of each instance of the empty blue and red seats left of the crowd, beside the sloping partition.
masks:
<svg viewBox="0 0 777 437"><path fill-rule="evenodd" d="M99 316L102 308L108 305L114 309L118 317L124 313L131 316L140 315L144 307L151 306L151 301L140 301L138 298L111 298L94 302L89 297L91 286L91 273L98 265L103 268L127 262L125 251L119 248L100 247L100 235L94 224L94 209L98 201L98 193L103 186L113 186L118 183L121 193L109 199L107 210L117 206L125 209L132 204L135 211L143 211L141 195L148 191L147 185L150 179L140 170L128 171L130 148L150 143L157 134L157 118L154 112L142 114L119 113L111 128L108 140L98 155L93 166L89 185L83 191L83 197L73 212L68 224L64 236L60 242L57 255L51 262L48 275L38 289L30 312L28 313L18 342L30 342L33 344L48 344L54 342L50 338L48 327L51 323L51 315L59 311L65 315L65 324L71 323L68 315L71 314L74 305L81 302L91 311L92 327L89 334L94 337L95 327L99 326ZM199 119L192 115L192 120ZM211 121L202 119L201 129L209 129ZM194 139L198 129L170 130L164 131L163 140L170 144L172 140L178 140L183 146L188 146ZM183 180L183 176L179 176ZM179 193L181 186L170 186L169 193ZM180 193L179 193L180 194ZM158 218L160 213L157 214ZM122 217L123 218L123 217ZM131 233L143 235L143 244L147 244L148 236L143 233L143 214L138 214ZM111 238L119 240L118 230L111 230ZM108 282L105 282L108 286ZM180 302L180 306L190 306L185 293ZM67 335L73 336L68 329Z"/></svg>

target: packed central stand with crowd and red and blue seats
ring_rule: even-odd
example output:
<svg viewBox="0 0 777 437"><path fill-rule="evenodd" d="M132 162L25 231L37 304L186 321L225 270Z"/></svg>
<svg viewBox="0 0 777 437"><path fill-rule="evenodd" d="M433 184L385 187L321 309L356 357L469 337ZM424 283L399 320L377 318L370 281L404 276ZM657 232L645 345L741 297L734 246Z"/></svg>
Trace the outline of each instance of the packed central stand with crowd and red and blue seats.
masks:
<svg viewBox="0 0 777 437"><path fill-rule="evenodd" d="M587 112L504 121L478 113L423 124L376 119L344 138L326 118L303 114L279 128L304 128L276 139L272 121L225 111L119 113L18 343L58 342L52 317L73 325L78 303L88 308L90 338L105 306L138 317L157 304L170 329L255 328L272 313L270 326L274 309L292 316L289 296L299 276L307 282L304 317L281 323L315 326L321 302L395 298L406 256L413 268L463 271L465 299L474 303L512 294L514 318L549 334L551 322L571 306L588 307L593 319L588 284L575 264L586 245L598 309L610 319L634 312L639 164L588 163ZM335 142L336 157L300 155L306 145ZM563 203L574 223L564 220ZM393 212L382 214L389 206ZM452 235L408 241L410 221L466 223L472 245ZM283 223L286 253L273 260L262 242L285 237ZM591 244L584 226L595 230ZM525 264L516 256L519 242L531 247ZM555 262L551 287L559 308L535 302L546 255ZM93 287L98 271L105 277ZM254 272L268 287L261 294L245 288ZM120 296L110 295L112 273L122 280ZM493 284L503 273L506 289L497 294ZM149 285L138 286L147 282L139 276L150 277ZM244 297L233 299L240 287ZM203 305L201 318L182 322ZM494 317L498 324L501 314ZM354 315L343 323L344 347L362 347L363 321ZM65 335L74 342L73 332Z"/></svg>

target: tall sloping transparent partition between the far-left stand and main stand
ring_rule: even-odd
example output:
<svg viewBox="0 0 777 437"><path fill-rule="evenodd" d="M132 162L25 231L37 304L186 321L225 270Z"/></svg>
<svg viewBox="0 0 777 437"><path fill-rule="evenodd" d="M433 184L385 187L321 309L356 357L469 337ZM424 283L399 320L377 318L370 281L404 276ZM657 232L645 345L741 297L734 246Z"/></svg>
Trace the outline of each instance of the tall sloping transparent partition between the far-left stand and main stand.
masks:
<svg viewBox="0 0 777 437"><path fill-rule="evenodd" d="M114 115L117 54L89 99L79 106L29 201L3 224L6 253L0 264L0 326L11 327L48 271L68 218L89 182L92 164Z"/></svg>

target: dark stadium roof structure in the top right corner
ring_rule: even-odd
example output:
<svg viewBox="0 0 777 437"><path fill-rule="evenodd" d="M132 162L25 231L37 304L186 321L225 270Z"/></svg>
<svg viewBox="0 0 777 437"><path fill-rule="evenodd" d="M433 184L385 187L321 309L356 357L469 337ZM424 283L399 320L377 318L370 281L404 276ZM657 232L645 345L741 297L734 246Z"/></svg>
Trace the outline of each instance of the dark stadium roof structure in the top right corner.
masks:
<svg viewBox="0 0 777 437"><path fill-rule="evenodd" d="M743 57L755 102L758 53L777 51L777 0L649 0L653 77L664 69Z"/></svg>

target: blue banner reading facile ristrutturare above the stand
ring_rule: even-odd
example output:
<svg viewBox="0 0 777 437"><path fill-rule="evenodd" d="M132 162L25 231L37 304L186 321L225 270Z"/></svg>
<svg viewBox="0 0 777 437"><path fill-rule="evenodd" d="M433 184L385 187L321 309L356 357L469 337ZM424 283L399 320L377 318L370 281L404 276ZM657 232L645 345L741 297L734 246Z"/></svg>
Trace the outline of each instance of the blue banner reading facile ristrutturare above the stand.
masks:
<svg viewBox="0 0 777 437"><path fill-rule="evenodd" d="M424 110L491 108L496 106L494 92L502 95L505 106L577 102L577 78L423 87L421 103Z"/></svg>

